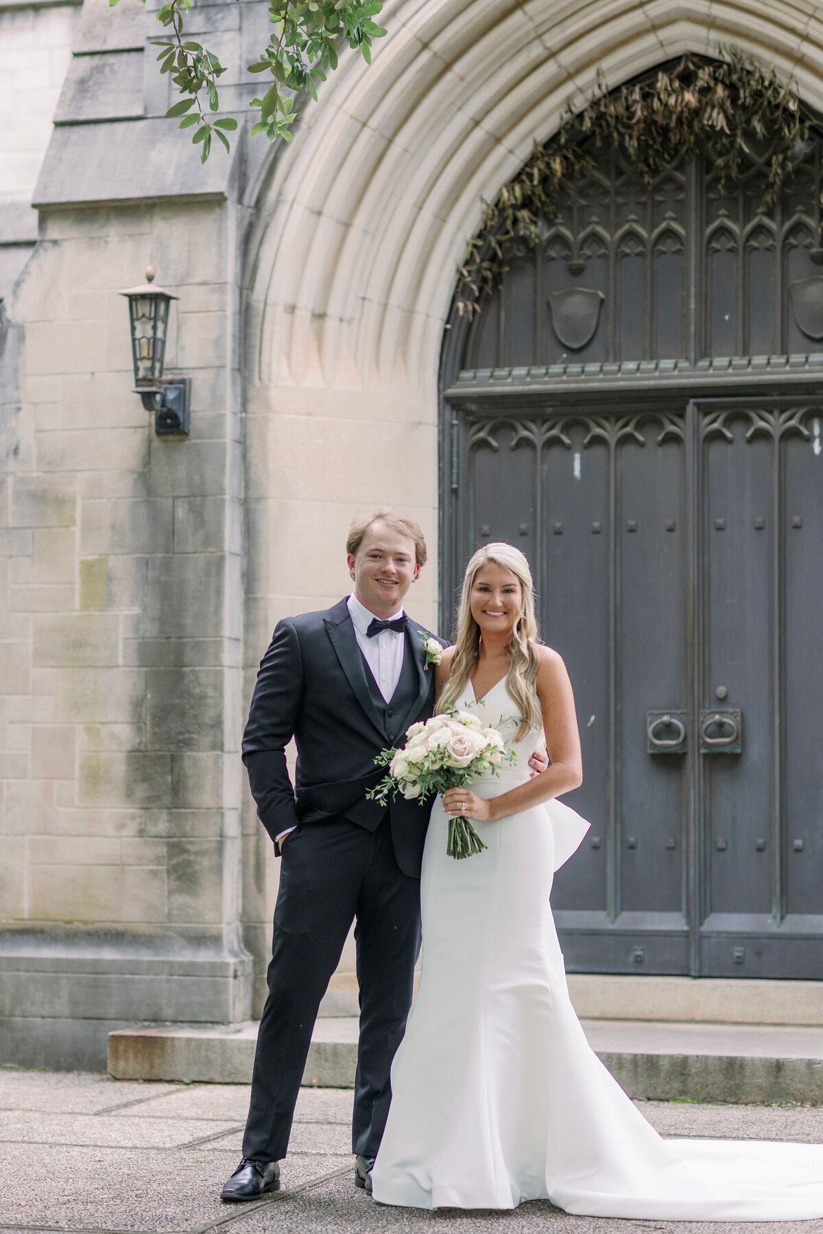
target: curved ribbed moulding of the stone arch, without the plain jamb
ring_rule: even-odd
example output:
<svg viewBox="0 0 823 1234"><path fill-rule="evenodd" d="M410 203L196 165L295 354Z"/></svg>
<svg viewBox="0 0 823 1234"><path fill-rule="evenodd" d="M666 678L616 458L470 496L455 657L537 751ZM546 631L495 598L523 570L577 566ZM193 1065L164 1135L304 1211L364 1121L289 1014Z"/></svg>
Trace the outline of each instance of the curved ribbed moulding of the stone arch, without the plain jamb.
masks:
<svg viewBox="0 0 823 1234"><path fill-rule="evenodd" d="M396 0L306 110L258 199L249 378L433 399L454 269L492 199L600 68L612 85L734 43L823 105L823 22L792 0Z"/></svg>

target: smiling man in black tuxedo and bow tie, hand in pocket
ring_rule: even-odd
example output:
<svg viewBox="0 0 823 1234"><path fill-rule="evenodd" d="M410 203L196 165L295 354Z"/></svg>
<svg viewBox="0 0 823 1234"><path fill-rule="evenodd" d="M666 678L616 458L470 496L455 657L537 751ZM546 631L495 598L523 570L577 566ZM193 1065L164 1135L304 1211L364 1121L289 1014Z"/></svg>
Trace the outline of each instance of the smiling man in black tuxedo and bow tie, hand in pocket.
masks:
<svg viewBox="0 0 823 1234"><path fill-rule="evenodd" d="M243 1159L222 1199L257 1199L280 1186L317 1008L353 921L360 1039L352 1146L354 1181L371 1190L391 1060L412 1000L431 802L386 807L365 793L384 774L375 755L434 706L427 632L403 613L426 542L406 515L380 510L352 524L347 552L353 594L279 622L243 737L258 814L283 863ZM285 755L292 737L294 787Z"/></svg>

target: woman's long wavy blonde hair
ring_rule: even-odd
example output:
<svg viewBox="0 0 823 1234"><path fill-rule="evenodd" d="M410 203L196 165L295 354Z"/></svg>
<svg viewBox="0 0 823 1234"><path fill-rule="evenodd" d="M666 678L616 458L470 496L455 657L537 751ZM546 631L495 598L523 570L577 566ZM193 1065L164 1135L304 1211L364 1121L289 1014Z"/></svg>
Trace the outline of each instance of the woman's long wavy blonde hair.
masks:
<svg viewBox="0 0 823 1234"><path fill-rule="evenodd" d="M437 711L444 711L449 705L454 706L457 703L480 659L480 627L471 616L471 589L478 570L484 565L502 565L503 569L511 570L512 574L517 575L521 582L521 615L506 647L511 661L506 676L506 690L521 714L521 723L515 734L515 740L519 742L533 724L539 727L542 722L534 685L540 656L537 649L538 632L537 618L534 616L532 571L528 568L524 555L512 544L503 544L502 542L485 544L478 549L466 565L460 607L458 608L452 673L449 680L443 686Z"/></svg>

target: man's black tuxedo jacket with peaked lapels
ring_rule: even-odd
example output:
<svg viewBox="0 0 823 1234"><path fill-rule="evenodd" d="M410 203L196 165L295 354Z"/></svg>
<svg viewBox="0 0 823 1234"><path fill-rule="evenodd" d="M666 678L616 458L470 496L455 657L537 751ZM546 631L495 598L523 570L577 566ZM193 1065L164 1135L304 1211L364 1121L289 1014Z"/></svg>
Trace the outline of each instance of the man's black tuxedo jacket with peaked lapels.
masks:
<svg viewBox="0 0 823 1234"><path fill-rule="evenodd" d="M428 719L434 707L434 666L424 666L426 631L407 621L418 691L402 733L416 721ZM385 806L368 801L365 791L385 775L374 758L391 743L371 702L366 671L345 600L278 623L260 661L243 734L252 795L273 839L287 827L331 814L343 814L368 829L384 817ZM294 787L285 755L292 737L297 745ZM421 803L392 797L389 807L397 864L415 877L420 876L431 806L431 798Z"/></svg>

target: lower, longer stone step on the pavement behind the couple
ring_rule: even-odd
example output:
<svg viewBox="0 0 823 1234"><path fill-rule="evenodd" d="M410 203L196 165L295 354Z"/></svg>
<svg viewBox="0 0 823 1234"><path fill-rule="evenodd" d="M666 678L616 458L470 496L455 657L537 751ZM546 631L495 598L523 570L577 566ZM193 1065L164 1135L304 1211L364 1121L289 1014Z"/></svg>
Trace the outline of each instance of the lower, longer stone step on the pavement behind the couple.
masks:
<svg viewBox="0 0 823 1234"><path fill-rule="evenodd" d="M632 1097L697 1102L823 1104L823 1028L582 1021L603 1064ZM354 1017L318 1019L304 1085L350 1088ZM248 1083L257 1022L136 1027L109 1035L116 1080Z"/></svg>

